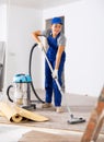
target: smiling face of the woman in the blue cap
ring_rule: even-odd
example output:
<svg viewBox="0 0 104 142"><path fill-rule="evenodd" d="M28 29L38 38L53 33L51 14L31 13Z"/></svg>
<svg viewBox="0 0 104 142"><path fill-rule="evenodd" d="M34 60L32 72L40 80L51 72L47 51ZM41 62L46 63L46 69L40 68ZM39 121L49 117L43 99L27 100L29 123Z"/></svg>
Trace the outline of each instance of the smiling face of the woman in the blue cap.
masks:
<svg viewBox="0 0 104 142"><path fill-rule="evenodd" d="M57 36L61 32L62 25L61 24L53 24L51 32L54 36Z"/></svg>

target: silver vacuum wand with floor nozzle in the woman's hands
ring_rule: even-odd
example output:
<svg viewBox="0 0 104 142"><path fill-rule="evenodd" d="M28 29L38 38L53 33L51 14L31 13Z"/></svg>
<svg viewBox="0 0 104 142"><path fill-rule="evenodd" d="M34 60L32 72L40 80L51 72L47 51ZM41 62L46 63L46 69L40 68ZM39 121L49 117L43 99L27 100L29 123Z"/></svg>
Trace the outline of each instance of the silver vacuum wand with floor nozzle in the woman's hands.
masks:
<svg viewBox="0 0 104 142"><path fill-rule="evenodd" d="M50 69L50 71L51 71L51 73L53 73L53 67L51 67L51 64L50 64L50 62L49 62L49 60L48 60L48 58L47 58L47 56L46 56L46 50L45 50L45 48L43 48L42 51L44 52L45 59L46 59L46 61L47 61L47 63L48 63L48 66L49 66L49 69ZM56 81L56 84L57 84L58 90L60 91L61 95L65 97L66 95L63 95L62 88L61 88L61 86L60 86L60 84L59 84L57 78L54 79L54 80ZM67 99L66 99L66 100L67 100ZM73 125L73 123L85 122L85 119L83 119L83 118L77 118L77 117L74 117L74 116L71 114L71 110L70 110L68 104L67 104L67 109L68 109L68 111L69 111L69 114L70 114L70 118L69 118L69 120L68 120L68 123Z"/></svg>

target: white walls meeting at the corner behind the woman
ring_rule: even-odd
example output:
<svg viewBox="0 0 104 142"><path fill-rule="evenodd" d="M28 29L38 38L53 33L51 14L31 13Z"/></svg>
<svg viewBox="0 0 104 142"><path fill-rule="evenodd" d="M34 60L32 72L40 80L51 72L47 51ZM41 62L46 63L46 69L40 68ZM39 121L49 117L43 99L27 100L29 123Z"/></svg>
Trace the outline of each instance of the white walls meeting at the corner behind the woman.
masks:
<svg viewBox="0 0 104 142"><path fill-rule="evenodd" d="M44 22L56 15L65 15L66 92L97 96L104 83L103 0L76 0L44 12L11 5L8 28L8 85L15 73L27 73L28 54L34 44L31 33L43 28L42 17ZM34 52L33 74L35 87L44 88L44 57L38 49Z"/></svg>

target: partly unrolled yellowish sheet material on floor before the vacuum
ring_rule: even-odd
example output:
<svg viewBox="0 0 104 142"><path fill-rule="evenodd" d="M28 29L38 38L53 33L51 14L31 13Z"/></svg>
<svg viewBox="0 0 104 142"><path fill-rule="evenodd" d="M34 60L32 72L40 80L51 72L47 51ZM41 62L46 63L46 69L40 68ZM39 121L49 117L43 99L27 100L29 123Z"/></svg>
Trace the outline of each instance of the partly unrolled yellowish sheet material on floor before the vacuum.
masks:
<svg viewBox="0 0 104 142"><path fill-rule="evenodd" d="M24 118L38 122L49 120L42 115L28 111L15 104L0 103L0 110L10 121L13 122L21 122Z"/></svg>

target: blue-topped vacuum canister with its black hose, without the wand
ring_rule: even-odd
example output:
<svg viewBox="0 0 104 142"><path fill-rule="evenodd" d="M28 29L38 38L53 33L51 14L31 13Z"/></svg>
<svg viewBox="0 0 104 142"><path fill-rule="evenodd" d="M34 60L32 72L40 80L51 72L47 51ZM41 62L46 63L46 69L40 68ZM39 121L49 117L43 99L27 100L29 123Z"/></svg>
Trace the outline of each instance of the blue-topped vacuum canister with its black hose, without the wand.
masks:
<svg viewBox="0 0 104 142"><path fill-rule="evenodd" d="M30 61L28 61L28 74L20 73L13 76L13 84L9 85L7 88L7 96L10 102L15 103L25 109L35 109L35 103L45 103L39 95L36 93L33 81L32 81L32 57L33 51L37 44L35 44L30 52ZM31 99L31 88L37 98L37 100ZM13 91L13 92L12 92ZM12 92L12 93L11 93ZM12 95L13 94L13 95Z"/></svg>

